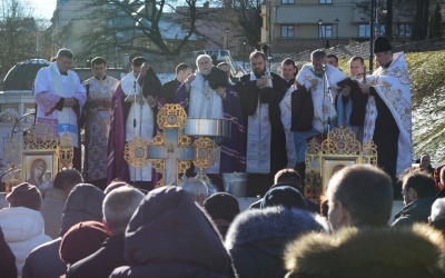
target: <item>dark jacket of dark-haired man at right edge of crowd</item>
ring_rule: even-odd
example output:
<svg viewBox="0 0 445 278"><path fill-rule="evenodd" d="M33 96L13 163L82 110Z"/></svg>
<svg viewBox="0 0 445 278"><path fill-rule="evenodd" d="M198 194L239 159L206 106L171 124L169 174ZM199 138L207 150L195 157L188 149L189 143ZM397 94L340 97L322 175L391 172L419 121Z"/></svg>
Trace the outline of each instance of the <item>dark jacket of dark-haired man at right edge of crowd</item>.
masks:
<svg viewBox="0 0 445 278"><path fill-rule="evenodd" d="M414 222L428 222L431 208L436 197L415 199L396 214L393 227L412 226Z"/></svg>

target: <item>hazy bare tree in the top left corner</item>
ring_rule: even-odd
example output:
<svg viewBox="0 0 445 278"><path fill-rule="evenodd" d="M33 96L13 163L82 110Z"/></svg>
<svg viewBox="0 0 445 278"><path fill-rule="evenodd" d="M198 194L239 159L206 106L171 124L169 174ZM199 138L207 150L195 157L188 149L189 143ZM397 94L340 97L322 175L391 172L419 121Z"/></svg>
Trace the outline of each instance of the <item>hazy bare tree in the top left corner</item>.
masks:
<svg viewBox="0 0 445 278"><path fill-rule="evenodd" d="M0 63L10 69L36 57L39 29L32 11L18 0L3 0L0 14Z"/></svg>

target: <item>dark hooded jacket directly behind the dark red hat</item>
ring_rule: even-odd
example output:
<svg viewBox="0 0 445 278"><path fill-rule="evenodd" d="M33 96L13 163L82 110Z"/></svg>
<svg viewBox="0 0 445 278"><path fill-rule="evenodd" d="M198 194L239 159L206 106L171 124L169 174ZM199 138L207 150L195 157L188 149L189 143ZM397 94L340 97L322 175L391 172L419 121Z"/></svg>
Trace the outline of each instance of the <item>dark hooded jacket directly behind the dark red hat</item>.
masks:
<svg viewBox="0 0 445 278"><path fill-rule="evenodd" d="M82 221L102 221L103 192L87 183L76 186L68 196L62 214L60 235L63 236L71 226ZM62 238L32 250L23 267L24 277L52 278L67 272L67 264L59 257Z"/></svg>

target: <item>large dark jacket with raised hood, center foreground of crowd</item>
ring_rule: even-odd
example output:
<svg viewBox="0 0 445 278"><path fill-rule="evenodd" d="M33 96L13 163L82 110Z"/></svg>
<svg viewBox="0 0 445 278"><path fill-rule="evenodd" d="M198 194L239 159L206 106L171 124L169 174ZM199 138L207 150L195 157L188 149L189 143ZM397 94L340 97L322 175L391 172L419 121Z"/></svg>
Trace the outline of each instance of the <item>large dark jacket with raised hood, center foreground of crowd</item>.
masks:
<svg viewBox="0 0 445 278"><path fill-rule="evenodd" d="M179 187L145 197L128 224L125 256L130 266L110 277L235 277L210 219Z"/></svg>

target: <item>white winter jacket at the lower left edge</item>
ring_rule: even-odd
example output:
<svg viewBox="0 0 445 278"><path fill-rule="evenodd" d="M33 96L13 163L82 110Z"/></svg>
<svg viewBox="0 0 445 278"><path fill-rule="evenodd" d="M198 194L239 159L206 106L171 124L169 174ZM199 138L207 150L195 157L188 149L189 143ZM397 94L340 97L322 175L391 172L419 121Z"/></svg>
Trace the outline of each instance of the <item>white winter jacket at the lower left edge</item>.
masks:
<svg viewBox="0 0 445 278"><path fill-rule="evenodd" d="M17 272L21 277L24 259L32 249L52 240L43 234L43 217L40 211L24 207L3 208L0 210L0 226L16 256Z"/></svg>

